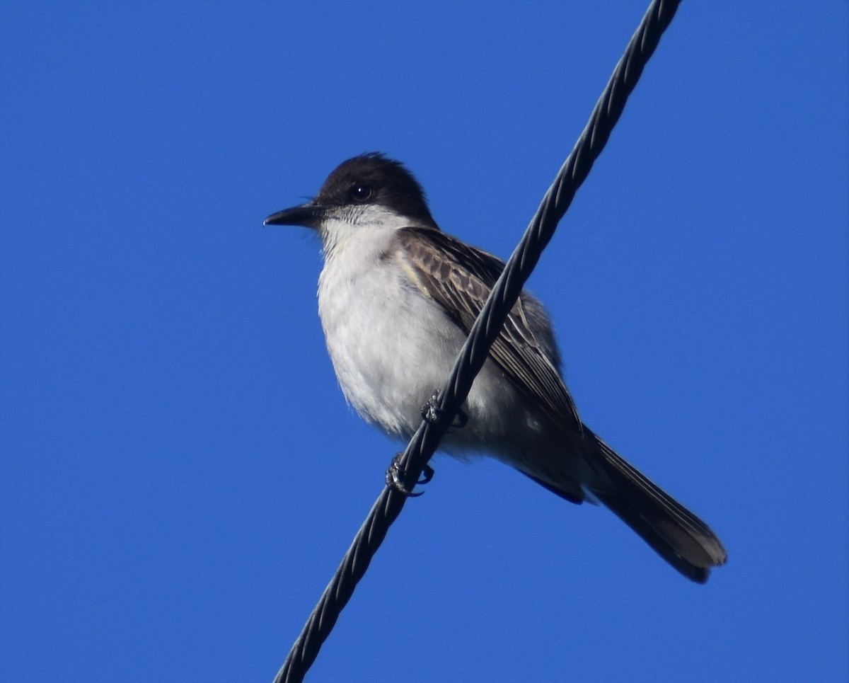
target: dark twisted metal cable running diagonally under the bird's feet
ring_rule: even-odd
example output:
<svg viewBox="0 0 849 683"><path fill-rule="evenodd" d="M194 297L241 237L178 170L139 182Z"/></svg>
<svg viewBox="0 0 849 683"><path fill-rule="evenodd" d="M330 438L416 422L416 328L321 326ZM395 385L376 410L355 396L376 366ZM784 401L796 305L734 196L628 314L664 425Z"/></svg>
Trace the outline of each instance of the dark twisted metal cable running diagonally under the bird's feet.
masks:
<svg viewBox="0 0 849 683"><path fill-rule="evenodd" d="M432 420L424 420L398 460L402 482L412 489L442 435L469 394L492 342L519 298L557 223L569 208L577 189L598 159L610 132L625 109L628 96L637 85L644 66L655 52L661 35L672 22L681 0L654 0L628 43L613 75L604 87L587 126L560 168L554 183L531 219L519 245L492 288L481 314L459 353L446 387L440 392L439 406ZM380 547L392 522L401 513L407 496L387 486L369 511L333 579L312 610L301 635L295 641L274 683L297 683L318 657L318 651L333 629L336 619L363 578L371 558Z"/></svg>

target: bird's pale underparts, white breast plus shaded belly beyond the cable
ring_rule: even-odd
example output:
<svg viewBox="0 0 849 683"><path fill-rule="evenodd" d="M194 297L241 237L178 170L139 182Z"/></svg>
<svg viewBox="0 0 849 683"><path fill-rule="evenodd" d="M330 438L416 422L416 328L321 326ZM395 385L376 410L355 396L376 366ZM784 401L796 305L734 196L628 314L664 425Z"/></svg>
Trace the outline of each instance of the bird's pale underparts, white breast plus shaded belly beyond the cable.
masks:
<svg viewBox="0 0 849 683"><path fill-rule="evenodd" d="M413 285L396 226L324 228L318 313L348 402L366 421L408 438L441 389L465 341L442 309ZM332 231L335 231L333 234ZM464 405L469 421L443 440L453 454L486 450L515 461L543 426L498 366L487 362Z"/></svg>

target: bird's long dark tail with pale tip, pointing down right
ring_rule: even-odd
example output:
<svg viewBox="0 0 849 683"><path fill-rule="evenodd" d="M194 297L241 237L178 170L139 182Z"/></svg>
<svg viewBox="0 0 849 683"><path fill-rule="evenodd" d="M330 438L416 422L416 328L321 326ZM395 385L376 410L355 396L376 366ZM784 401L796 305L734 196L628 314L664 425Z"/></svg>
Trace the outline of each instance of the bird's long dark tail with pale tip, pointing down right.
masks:
<svg viewBox="0 0 849 683"><path fill-rule="evenodd" d="M723 564L727 558L717 534L593 432L585 433L596 444L596 457L588 459L599 475L599 484L589 487L595 497L672 567L704 584L711 567Z"/></svg>

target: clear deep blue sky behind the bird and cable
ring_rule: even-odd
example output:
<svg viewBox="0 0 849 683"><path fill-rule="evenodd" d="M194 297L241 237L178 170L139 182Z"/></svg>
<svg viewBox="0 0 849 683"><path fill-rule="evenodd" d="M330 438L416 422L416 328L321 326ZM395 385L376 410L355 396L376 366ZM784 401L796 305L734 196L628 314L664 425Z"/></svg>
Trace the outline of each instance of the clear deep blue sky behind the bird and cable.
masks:
<svg viewBox="0 0 849 683"><path fill-rule="evenodd" d="M507 257L644 7L0 3L3 680L272 679L398 446L262 219L383 150ZM846 680L847 26L683 3L529 285L728 566L437 455L308 680Z"/></svg>

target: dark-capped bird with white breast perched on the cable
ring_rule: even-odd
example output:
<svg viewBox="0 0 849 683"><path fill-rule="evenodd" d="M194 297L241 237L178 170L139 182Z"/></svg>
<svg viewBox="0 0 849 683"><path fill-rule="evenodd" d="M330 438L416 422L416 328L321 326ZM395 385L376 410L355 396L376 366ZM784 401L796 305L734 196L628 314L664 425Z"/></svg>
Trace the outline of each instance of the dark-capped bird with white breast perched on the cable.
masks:
<svg viewBox="0 0 849 683"><path fill-rule="evenodd" d="M443 232L424 189L380 152L343 161L312 200L265 225L321 239L318 315L336 378L368 423L408 440L442 387L504 263ZM705 522L583 422L543 304L522 291L440 448L488 454L571 503L613 511L696 583L727 553Z"/></svg>

